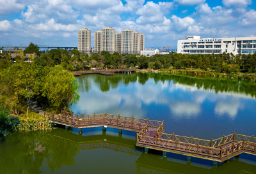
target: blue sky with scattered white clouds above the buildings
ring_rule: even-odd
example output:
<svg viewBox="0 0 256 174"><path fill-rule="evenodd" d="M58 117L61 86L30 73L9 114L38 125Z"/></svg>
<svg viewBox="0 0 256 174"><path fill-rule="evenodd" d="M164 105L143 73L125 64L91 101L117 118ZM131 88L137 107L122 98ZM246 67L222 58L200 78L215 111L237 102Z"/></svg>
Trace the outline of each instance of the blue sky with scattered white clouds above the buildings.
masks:
<svg viewBox="0 0 256 174"><path fill-rule="evenodd" d="M77 30L110 26L145 34L145 47L188 35L256 36L255 0L0 0L0 46L77 47Z"/></svg>

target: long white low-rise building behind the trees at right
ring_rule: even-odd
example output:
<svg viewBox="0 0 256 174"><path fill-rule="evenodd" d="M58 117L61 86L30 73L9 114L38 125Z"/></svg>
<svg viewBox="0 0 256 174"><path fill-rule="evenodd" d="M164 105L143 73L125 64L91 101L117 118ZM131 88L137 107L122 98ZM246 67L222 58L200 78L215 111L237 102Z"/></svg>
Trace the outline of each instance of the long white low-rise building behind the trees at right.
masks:
<svg viewBox="0 0 256 174"><path fill-rule="evenodd" d="M237 38L200 38L188 36L186 40L179 40L177 53L181 54L221 54L223 52L234 55L254 54L256 52L256 36Z"/></svg>

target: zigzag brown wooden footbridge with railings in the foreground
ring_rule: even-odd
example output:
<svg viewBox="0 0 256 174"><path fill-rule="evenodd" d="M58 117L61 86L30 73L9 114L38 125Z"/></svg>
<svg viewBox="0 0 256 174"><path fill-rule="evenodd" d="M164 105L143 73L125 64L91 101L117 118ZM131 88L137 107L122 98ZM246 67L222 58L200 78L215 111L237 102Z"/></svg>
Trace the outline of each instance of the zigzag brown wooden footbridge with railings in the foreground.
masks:
<svg viewBox="0 0 256 174"><path fill-rule="evenodd" d="M108 113L79 115L70 112L61 114L44 113L56 124L76 127L81 131L85 127L108 126L137 133L136 145L148 149L199 157L212 161L227 161L241 153L256 155L256 138L243 134L229 134L216 140L179 136L164 133L164 121L138 119Z"/></svg>

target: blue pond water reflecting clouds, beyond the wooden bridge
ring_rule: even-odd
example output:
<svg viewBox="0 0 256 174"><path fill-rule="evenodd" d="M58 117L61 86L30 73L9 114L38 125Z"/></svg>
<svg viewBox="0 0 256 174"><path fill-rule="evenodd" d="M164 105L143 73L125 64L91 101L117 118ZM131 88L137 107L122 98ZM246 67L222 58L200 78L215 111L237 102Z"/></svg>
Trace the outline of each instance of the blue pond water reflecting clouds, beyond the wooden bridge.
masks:
<svg viewBox="0 0 256 174"><path fill-rule="evenodd" d="M161 73L84 75L77 80L81 98L71 106L74 113L164 120L167 133L206 139L256 132L256 83Z"/></svg>

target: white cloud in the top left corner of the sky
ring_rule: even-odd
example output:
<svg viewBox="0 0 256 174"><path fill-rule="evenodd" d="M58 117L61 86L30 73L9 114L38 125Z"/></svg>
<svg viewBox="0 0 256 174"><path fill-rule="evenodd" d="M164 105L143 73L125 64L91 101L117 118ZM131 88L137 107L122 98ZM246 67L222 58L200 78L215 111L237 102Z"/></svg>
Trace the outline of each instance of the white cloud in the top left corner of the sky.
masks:
<svg viewBox="0 0 256 174"><path fill-rule="evenodd" d="M10 15L10 13L18 13L25 8L24 4L17 3L16 0L1 0L0 15Z"/></svg>

